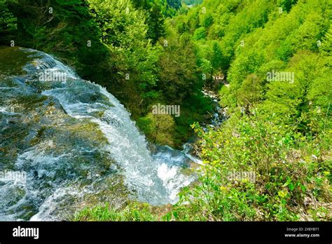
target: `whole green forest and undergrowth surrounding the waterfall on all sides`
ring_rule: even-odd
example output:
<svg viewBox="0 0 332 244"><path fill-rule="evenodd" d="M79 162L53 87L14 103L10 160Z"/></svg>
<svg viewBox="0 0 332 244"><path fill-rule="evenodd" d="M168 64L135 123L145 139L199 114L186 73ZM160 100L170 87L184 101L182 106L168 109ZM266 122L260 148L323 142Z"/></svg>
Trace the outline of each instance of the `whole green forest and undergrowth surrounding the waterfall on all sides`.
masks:
<svg viewBox="0 0 332 244"><path fill-rule="evenodd" d="M176 203L88 201L69 219L331 221L331 5L0 0L0 46L53 55L114 95L148 144L191 142L201 161ZM205 126L215 104L202 91L224 113L218 126ZM0 169L6 147L0 138Z"/></svg>

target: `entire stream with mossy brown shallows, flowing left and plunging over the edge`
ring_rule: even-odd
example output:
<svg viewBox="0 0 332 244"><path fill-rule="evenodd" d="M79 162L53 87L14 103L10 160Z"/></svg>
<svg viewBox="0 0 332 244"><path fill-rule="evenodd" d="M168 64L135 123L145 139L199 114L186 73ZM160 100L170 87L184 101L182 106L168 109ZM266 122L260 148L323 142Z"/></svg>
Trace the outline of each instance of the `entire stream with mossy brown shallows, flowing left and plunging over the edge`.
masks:
<svg viewBox="0 0 332 244"><path fill-rule="evenodd" d="M198 158L151 153L116 97L54 57L0 48L0 63L0 220L62 220L88 203L127 199L176 203L195 179L187 169ZM56 72L66 80L41 79Z"/></svg>

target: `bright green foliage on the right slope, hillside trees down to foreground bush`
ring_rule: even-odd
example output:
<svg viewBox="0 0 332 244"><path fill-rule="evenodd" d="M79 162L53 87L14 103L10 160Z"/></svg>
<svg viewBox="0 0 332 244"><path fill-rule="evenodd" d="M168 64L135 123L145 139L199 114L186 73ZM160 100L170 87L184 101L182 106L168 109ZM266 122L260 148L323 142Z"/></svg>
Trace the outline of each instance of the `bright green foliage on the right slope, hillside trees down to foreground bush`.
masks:
<svg viewBox="0 0 332 244"><path fill-rule="evenodd" d="M323 0L204 1L176 18L202 71L230 83L219 96L231 117L217 131L195 126L205 166L171 219L331 219L331 10ZM234 170L255 182L230 181Z"/></svg>

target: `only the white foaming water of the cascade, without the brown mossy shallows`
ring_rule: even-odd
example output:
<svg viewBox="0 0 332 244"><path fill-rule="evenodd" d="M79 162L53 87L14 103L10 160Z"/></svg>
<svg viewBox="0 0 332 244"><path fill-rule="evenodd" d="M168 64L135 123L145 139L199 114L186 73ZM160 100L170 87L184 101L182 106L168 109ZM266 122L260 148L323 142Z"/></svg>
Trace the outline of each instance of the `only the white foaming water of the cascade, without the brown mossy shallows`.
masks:
<svg viewBox="0 0 332 244"><path fill-rule="evenodd" d="M34 144L33 147L25 149L18 155L14 163L15 168L28 173L25 186L21 186L25 194L20 196L20 200L13 205L8 205L8 202L3 203L6 205L6 211L2 214L0 211L0 219L17 218L15 211L18 209L24 211L22 205L27 205L27 203L33 203L34 208L39 210L37 214L34 214L32 220L57 219L52 216L53 210L59 207L59 203L62 204L61 208L65 208L63 204L68 201L67 196L75 198L83 197L86 193L93 194L94 190L91 186L95 182L90 185L85 184L84 187L76 187L76 184L84 181L84 176L80 174L82 172L85 174L86 171L88 171L88 175L91 173L95 177L95 181L106 182L108 178L113 177L110 172L115 170L114 172L123 175L125 186L138 201L153 205L177 201L177 193L181 187L187 186L194 179L193 175L184 175L181 172L184 165L188 165L188 161L191 161L186 154L167 147L158 147L158 150L151 155L147 149L145 137L139 133L130 119L130 113L105 88L89 81L83 81L72 69L62 65L50 55L36 50L22 51L33 56L34 61L25 66L26 82L19 83L19 86L27 90L34 88L29 95L34 95L38 91L39 96L43 99L47 98L51 102L54 100L52 104L61 105L58 110L63 109L67 116L64 114L64 118L57 121L57 128L69 138L66 145L63 142L66 140L63 136L49 133L53 137L43 138L42 142ZM64 82L36 81L36 76L39 76L41 71L64 72L68 79ZM32 86L29 87L29 84ZM1 113L4 114L4 111L1 110ZM47 115L48 113L49 111L46 111ZM54 123L54 121L49 121L48 116L44 117L40 120L41 122ZM6 117L6 119L8 118ZM85 125L95 128L93 126L96 125L99 129L86 131L79 128L80 125L83 128ZM62 129L62 126L66 129ZM70 128L70 133L67 132L67 128ZM77 135L77 133L71 132L71 128L79 131L80 140L78 142L71 139ZM82 133L92 137L89 133L99 135L98 130L102 137L106 138L106 143L92 146L90 145L92 142L90 143L89 140L81 140ZM31 132L31 134L36 133ZM109 170L106 168L100 173L97 165L99 161L95 158L89 159L91 155L95 154L106 155L100 161L104 162L107 158L111 158L116 163L111 165ZM86 163L89 160L90 164ZM80 163L81 161L84 163ZM47 191L45 185L49 187ZM8 187L12 186L0 185L0 195L9 194Z"/></svg>

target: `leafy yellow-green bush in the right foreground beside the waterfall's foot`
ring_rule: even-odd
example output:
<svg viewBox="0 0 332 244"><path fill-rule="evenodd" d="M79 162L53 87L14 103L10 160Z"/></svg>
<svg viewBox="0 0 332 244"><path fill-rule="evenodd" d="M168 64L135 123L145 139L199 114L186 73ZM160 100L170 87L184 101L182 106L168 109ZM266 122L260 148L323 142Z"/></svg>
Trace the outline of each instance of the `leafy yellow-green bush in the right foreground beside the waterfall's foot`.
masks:
<svg viewBox="0 0 332 244"><path fill-rule="evenodd" d="M328 211L324 203L331 201L329 155L319 163L313 161L308 144L296 131L275 125L257 111L251 113L233 115L216 132L194 126L202 138L205 165L198 183L181 192L172 218L292 221L317 219L314 212ZM230 172L254 172L255 179L232 180Z"/></svg>

